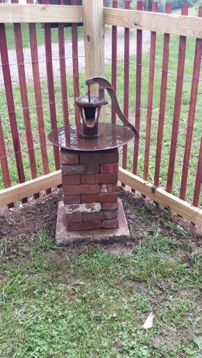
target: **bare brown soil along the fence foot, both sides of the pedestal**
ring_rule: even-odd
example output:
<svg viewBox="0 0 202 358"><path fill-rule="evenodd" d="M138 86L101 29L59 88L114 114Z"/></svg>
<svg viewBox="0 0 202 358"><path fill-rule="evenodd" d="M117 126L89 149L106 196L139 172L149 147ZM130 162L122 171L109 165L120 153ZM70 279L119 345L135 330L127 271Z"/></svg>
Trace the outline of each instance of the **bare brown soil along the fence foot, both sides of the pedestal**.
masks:
<svg viewBox="0 0 202 358"><path fill-rule="evenodd" d="M200 237L196 235L194 225L181 219L167 210L156 207L151 201L142 198L138 194L119 187L119 197L123 201L124 211L128 226L131 231L131 241L126 244L114 244L108 246L110 253L122 252L131 254L134 244L144 245L144 235L152 232L153 225L160 230L162 235L178 237L180 240L194 241L199 244ZM58 201L62 198L62 189L53 189L52 193L45 193L39 199L32 198L28 203L16 206L12 209L1 207L0 209L0 240L17 240L22 237L33 237L42 228L47 230L51 237L55 237ZM173 226L172 226L173 225ZM176 230L177 227L180 230ZM185 233L181 234L181 230Z"/></svg>

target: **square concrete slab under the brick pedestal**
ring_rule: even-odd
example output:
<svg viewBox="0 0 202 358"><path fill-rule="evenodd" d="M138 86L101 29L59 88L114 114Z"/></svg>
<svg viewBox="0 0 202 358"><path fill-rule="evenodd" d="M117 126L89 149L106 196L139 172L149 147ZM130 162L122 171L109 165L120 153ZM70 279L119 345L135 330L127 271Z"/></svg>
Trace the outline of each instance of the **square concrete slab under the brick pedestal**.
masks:
<svg viewBox="0 0 202 358"><path fill-rule="evenodd" d="M126 222L126 216L124 214L124 208L119 201L118 229L99 229L99 230L82 230L82 231L67 231L65 225L65 208L63 201L58 203L58 219L56 224L56 245L69 246L75 244L81 244L84 242L104 242L105 244L115 241L126 241L130 239L130 233L128 230L128 224Z"/></svg>

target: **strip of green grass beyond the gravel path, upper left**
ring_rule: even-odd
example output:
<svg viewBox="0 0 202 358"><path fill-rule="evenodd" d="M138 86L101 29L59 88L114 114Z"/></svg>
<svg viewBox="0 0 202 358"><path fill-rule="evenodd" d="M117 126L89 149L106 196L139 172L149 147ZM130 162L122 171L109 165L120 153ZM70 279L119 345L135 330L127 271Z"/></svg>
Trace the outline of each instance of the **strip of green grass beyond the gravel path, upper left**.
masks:
<svg viewBox="0 0 202 358"><path fill-rule="evenodd" d="M28 24L22 24L22 41L24 47L29 47L29 33L28 33ZM36 33L37 33L37 44L44 44L44 28L41 24L36 24ZM78 37L83 37L83 26L78 26ZM58 42L58 28L51 29L51 38L52 42ZM71 39L71 27L65 27L65 40ZM13 35L13 25L6 24L6 40L8 49L15 49L15 38Z"/></svg>

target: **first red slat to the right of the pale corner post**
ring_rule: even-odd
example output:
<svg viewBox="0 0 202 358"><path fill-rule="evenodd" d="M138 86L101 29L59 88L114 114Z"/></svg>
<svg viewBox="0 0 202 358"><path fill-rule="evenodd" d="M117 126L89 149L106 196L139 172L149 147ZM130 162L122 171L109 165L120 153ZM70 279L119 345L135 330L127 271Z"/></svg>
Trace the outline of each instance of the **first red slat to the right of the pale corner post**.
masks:
<svg viewBox="0 0 202 358"><path fill-rule="evenodd" d="M117 8L118 1L112 1L112 8ZM117 26L112 26L112 87L117 92ZM116 123L117 116L112 105L112 123Z"/></svg>

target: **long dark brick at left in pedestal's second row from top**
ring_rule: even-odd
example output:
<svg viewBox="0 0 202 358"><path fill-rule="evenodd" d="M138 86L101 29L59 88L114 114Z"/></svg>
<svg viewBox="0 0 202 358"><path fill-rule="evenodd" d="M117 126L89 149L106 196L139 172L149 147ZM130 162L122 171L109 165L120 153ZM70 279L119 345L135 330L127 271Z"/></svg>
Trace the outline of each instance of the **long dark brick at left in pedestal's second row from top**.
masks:
<svg viewBox="0 0 202 358"><path fill-rule="evenodd" d="M95 174L100 172L99 164L77 164L77 165L62 165L62 174L64 176L80 175L80 174Z"/></svg>

